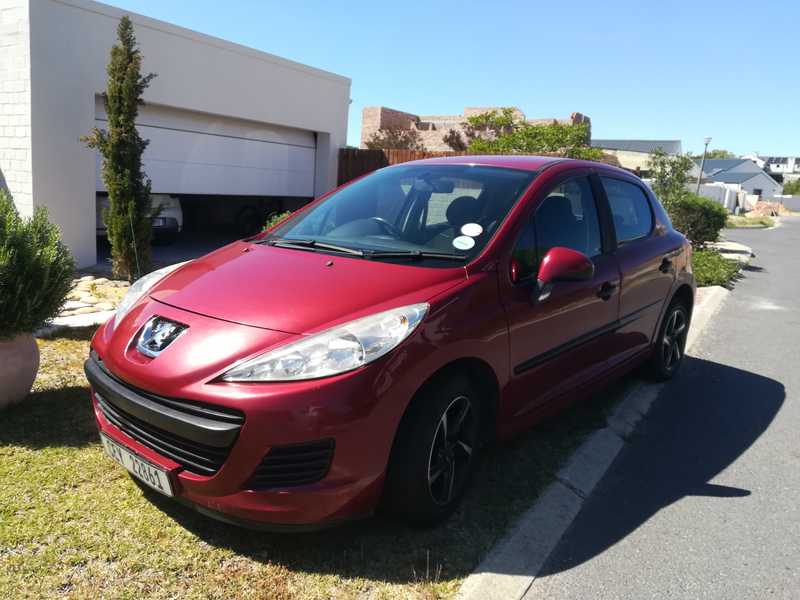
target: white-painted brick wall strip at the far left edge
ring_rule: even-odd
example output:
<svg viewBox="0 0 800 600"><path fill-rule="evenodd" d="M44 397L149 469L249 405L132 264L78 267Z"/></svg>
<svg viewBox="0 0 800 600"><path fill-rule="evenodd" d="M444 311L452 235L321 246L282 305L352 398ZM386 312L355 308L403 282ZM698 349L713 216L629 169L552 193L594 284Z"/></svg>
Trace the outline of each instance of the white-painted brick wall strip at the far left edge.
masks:
<svg viewBox="0 0 800 600"><path fill-rule="evenodd" d="M22 216L33 214L28 0L0 3L0 187Z"/></svg>

